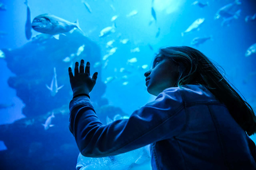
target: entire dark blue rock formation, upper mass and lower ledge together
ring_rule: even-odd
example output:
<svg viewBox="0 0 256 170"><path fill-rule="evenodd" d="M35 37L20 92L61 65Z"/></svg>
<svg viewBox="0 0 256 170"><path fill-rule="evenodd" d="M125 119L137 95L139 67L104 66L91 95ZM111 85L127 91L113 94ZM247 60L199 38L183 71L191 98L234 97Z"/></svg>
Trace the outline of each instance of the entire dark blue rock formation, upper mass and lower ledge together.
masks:
<svg viewBox="0 0 256 170"><path fill-rule="evenodd" d="M79 150L68 129L69 102L73 97L68 67L74 68L76 61L89 61L91 73L99 72L90 96L102 123L106 124L107 116L111 119L115 115L127 116L102 98L106 84L101 81L101 67L93 67L100 62L100 49L79 31L60 35L59 40L42 34L20 48L1 50L7 67L15 74L9 78L9 86L17 91L17 96L26 105L22 110L26 118L0 125L0 140L7 147L0 151L1 170L75 169ZM58 87L64 86L51 95L46 84L51 86L54 70ZM45 130L42 124L52 113L53 126Z"/></svg>

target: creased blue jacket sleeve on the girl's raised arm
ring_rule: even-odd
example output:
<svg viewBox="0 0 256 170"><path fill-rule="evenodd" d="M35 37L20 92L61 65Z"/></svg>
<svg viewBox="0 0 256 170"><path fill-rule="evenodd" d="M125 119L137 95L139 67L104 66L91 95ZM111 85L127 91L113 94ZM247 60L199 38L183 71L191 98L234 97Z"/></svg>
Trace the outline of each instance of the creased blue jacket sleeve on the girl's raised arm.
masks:
<svg viewBox="0 0 256 170"><path fill-rule="evenodd" d="M129 119L103 125L88 97L70 101L69 129L86 157L107 157L141 148L178 135L186 122L177 88L134 111Z"/></svg>

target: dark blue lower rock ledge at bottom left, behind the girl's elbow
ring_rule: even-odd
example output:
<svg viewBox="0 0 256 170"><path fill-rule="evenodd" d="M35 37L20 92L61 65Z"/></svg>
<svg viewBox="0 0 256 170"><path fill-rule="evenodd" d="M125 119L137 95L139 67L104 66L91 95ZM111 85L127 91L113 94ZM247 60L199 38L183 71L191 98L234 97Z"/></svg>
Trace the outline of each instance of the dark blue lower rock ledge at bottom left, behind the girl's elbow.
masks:
<svg viewBox="0 0 256 170"><path fill-rule="evenodd" d="M127 116L120 108L109 105L95 107L95 111L103 124L107 116L111 119L115 115ZM52 113L54 126L45 130L42 124ZM7 147L0 151L0 169L75 169L79 150L68 129L68 121L68 105L63 105L45 115L0 125L0 140Z"/></svg>

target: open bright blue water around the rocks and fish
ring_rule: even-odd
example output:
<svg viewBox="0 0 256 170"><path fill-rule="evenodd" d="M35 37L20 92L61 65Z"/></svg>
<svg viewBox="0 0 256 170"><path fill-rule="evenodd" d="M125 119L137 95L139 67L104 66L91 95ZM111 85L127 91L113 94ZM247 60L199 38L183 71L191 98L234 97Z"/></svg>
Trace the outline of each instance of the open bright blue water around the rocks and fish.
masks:
<svg viewBox="0 0 256 170"><path fill-rule="evenodd" d="M0 31L7 32L7 35L0 38L0 49L19 48L25 45L28 40L25 37L26 5L18 0L1 0L6 5L6 11L0 11ZM191 46L190 42L195 37L212 36L212 40L206 41L198 47L206 56L220 64L226 71L228 80L242 93L248 103L256 109L256 54L245 57L245 52L252 44L256 43L255 26L256 21L245 22L247 15L256 13L256 2L254 0L242 1L239 5L241 15L229 26L221 27L221 21L214 20L215 13L224 5L232 3L233 0L209 0L209 6L200 8L191 5L193 1L175 0L155 0L157 22L149 25L151 16L151 1L145 0L88 0L86 1L92 8L89 13L81 1L68 0L44 0L28 1L31 20L37 15L50 13L70 22L77 19L81 29L87 37L100 46L101 55L107 54L106 43L115 39L113 44L117 47L116 53L109 57L109 63L102 71L102 81L108 77L116 75L115 68L119 70L125 67L131 70L127 85L122 85L122 80L114 80L107 84L104 96L109 100L110 105L122 108L125 113L131 114L135 109L143 106L154 96L147 93L145 77L147 70L132 69L126 65L127 60L136 57L136 66L150 64L151 59L159 47L163 46ZM113 5L115 11L110 7ZM138 14L130 18L126 15L132 10L137 10ZM116 31L107 37L99 37L99 32L111 26L111 18L118 15L116 19ZM205 18L200 30L193 31L188 35L181 36L191 23L198 18ZM155 37L161 28L159 37ZM33 30L33 36L39 34ZM120 38L117 38L121 36ZM119 39L129 39L127 44L119 43ZM154 50L150 50L150 44ZM140 52L131 53L130 50L139 47ZM35 56L36 57L36 56ZM0 58L1 59L1 58ZM20 118L24 104L16 96L15 90L10 88L7 80L14 74L7 68L6 62L0 60L0 103L14 103L14 107L0 109L0 124L10 124ZM49 82L50 83L50 82ZM48 83L48 84L49 84ZM252 139L256 142L256 136ZM0 142L0 149L6 149L3 142Z"/></svg>

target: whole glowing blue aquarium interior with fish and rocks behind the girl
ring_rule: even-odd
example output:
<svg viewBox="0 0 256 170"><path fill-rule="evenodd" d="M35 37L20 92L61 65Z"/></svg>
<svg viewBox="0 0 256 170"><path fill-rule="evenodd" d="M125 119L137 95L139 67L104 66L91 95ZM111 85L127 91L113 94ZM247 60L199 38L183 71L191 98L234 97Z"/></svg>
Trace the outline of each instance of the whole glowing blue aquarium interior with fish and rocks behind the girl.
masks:
<svg viewBox="0 0 256 170"><path fill-rule="evenodd" d="M189 46L218 63L256 111L255 0L0 0L0 169L151 169L149 146L90 158L69 131L68 67L98 72L102 124L155 100L158 49ZM251 135L256 142L256 135Z"/></svg>

